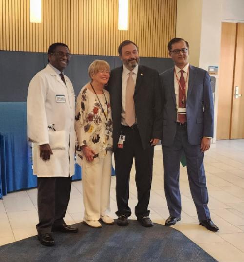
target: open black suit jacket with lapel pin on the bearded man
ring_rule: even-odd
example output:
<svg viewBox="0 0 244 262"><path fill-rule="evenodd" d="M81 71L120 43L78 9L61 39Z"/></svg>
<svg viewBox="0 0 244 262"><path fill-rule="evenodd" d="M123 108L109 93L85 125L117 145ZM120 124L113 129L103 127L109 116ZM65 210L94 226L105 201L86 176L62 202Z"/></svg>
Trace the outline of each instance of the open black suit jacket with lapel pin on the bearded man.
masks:
<svg viewBox="0 0 244 262"><path fill-rule="evenodd" d="M113 148L117 148L121 132L123 66L111 71L107 90L113 118ZM150 146L151 138L162 135L162 93L159 74L156 70L139 65L134 93L138 129L144 149Z"/></svg>

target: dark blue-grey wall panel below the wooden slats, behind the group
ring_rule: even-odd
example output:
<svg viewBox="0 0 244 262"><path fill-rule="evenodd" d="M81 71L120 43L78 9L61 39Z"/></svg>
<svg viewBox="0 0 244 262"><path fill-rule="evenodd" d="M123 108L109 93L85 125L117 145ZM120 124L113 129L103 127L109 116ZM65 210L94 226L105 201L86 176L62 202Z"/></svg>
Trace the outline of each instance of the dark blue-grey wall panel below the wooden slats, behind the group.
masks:
<svg viewBox="0 0 244 262"><path fill-rule="evenodd" d="M118 56L73 55L65 74L70 77L76 95L89 81L87 70L95 59L106 60L111 69L122 65ZM169 58L142 57L140 63L159 73L173 66ZM0 51L0 102L26 102L31 78L46 64L45 53Z"/></svg>

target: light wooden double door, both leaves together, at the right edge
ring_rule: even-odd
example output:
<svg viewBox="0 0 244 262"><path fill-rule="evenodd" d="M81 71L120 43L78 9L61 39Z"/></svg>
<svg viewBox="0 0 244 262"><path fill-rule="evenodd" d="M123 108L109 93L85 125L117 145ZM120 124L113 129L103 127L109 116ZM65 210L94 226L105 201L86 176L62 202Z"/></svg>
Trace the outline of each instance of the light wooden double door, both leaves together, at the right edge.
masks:
<svg viewBox="0 0 244 262"><path fill-rule="evenodd" d="M244 138L244 23L222 23L217 140Z"/></svg>

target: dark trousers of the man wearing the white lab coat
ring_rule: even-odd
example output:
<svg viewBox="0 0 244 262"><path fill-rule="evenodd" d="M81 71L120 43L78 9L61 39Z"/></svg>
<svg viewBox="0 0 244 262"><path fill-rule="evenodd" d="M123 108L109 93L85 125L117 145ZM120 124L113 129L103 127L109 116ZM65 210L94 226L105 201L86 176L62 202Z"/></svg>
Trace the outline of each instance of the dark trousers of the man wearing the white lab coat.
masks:
<svg viewBox="0 0 244 262"><path fill-rule="evenodd" d="M71 177L38 177L37 232L50 233L53 226L62 225L70 198Z"/></svg>

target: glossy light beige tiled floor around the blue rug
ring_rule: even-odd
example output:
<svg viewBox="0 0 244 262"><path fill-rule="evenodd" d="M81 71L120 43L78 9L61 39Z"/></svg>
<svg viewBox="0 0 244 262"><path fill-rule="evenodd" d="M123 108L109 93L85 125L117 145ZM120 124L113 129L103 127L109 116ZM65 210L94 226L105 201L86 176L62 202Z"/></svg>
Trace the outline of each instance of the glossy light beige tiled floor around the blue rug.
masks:
<svg viewBox="0 0 244 262"><path fill-rule="evenodd" d="M205 155L205 169L209 190L212 220L220 227L214 233L198 225L197 213L187 180L186 168L181 167L182 220L173 227L201 246L218 261L244 261L244 140L217 141ZM133 167L129 204L136 205L136 186ZM82 182L72 183L71 199L66 223L82 221L84 206ZM0 245L36 234L38 221L37 190L9 193L0 200ZM154 172L149 203L150 217L164 224L168 209L163 190L162 151L155 150ZM115 178L111 186L111 212L116 217ZM135 216L131 216L135 219ZM116 226L116 225L115 225Z"/></svg>

